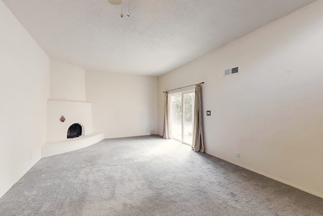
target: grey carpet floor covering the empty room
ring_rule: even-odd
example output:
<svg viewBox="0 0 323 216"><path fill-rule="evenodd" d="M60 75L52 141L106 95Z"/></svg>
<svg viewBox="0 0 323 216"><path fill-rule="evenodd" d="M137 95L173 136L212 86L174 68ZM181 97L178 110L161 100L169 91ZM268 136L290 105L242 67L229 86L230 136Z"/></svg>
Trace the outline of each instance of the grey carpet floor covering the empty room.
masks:
<svg viewBox="0 0 323 216"><path fill-rule="evenodd" d="M42 158L0 215L323 215L323 199L159 136Z"/></svg>

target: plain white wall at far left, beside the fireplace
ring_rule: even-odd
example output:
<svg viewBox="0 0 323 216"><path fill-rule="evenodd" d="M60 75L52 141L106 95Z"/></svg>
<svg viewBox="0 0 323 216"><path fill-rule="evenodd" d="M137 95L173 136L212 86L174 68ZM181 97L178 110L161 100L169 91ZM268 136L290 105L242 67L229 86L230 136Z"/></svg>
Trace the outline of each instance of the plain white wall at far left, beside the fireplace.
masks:
<svg viewBox="0 0 323 216"><path fill-rule="evenodd" d="M49 58L0 1L0 197L46 142Z"/></svg>

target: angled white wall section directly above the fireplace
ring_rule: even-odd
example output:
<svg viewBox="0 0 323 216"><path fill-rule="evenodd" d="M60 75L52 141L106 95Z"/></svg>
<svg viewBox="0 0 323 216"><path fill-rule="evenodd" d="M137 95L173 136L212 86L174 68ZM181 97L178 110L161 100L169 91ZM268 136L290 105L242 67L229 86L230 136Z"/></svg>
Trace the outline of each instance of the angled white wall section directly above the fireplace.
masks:
<svg viewBox="0 0 323 216"><path fill-rule="evenodd" d="M85 69L50 59L49 99L86 102Z"/></svg>

